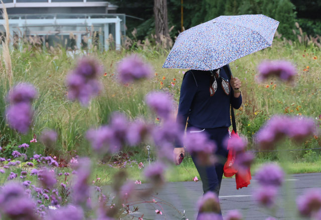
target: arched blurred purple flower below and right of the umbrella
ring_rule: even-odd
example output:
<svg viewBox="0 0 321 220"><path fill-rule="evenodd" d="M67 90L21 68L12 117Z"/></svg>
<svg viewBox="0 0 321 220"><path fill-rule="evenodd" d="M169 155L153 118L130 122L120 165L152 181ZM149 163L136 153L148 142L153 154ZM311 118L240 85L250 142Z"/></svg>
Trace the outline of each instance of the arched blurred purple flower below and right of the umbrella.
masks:
<svg viewBox="0 0 321 220"><path fill-rule="evenodd" d="M296 75L296 68L293 64L284 60L263 61L258 65L257 69L260 81L271 76L276 76L283 81L291 81Z"/></svg>

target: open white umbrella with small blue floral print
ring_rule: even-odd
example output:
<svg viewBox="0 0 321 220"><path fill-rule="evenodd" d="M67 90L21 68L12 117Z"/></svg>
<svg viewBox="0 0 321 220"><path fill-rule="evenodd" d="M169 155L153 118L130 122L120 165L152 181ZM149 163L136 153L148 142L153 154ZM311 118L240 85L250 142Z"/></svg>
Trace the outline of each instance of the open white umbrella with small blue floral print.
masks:
<svg viewBox="0 0 321 220"><path fill-rule="evenodd" d="M264 15L220 16L182 32L163 68L218 69L271 46L278 25Z"/></svg>

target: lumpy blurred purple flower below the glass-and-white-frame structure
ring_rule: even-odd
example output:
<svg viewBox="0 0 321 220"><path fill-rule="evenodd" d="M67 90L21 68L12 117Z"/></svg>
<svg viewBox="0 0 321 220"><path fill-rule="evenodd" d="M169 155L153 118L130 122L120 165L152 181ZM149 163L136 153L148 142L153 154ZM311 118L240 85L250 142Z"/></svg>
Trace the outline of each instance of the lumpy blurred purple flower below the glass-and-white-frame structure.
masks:
<svg viewBox="0 0 321 220"><path fill-rule="evenodd" d="M67 76L68 98L88 105L90 99L97 96L101 90L97 77L102 73L101 65L94 59L80 59L76 68Z"/></svg>

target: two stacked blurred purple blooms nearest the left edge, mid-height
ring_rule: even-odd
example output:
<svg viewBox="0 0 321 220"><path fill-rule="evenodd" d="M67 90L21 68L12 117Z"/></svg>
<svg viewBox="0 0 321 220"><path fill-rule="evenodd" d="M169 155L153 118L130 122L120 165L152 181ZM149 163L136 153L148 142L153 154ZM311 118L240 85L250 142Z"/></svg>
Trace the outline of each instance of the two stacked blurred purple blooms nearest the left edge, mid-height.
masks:
<svg viewBox="0 0 321 220"><path fill-rule="evenodd" d="M20 83L9 92L10 105L6 109L9 125L21 133L27 133L34 115L32 101L37 96L36 88Z"/></svg>

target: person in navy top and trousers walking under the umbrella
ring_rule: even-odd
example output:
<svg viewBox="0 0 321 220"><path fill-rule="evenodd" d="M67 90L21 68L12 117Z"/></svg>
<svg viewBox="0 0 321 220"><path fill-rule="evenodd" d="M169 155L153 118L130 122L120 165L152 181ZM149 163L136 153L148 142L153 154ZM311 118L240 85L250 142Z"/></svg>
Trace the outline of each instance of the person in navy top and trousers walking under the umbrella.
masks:
<svg viewBox="0 0 321 220"><path fill-rule="evenodd" d="M230 105L239 109L242 104L241 81L233 78L229 65L214 71L190 70L184 75L177 120L186 127L187 135L193 132L206 132L215 141L217 161L213 165L202 165L195 155L191 155L203 184L203 191L220 192L223 167L228 150L224 139L231 126ZM180 155L185 156L183 146L176 145L174 157L179 164Z"/></svg>

